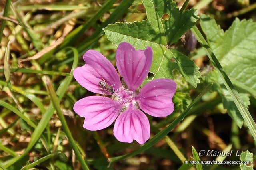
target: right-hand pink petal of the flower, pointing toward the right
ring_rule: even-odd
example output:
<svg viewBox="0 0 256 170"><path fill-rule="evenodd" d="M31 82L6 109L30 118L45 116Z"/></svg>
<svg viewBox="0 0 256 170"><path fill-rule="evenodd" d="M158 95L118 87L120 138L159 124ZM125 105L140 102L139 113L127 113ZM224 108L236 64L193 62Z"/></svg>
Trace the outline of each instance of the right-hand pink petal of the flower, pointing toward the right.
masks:
<svg viewBox="0 0 256 170"><path fill-rule="evenodd" d="M155 79L148 82L135 97L140 109L154 117L166 117L174 110L172 97L176 83L171 79Z"/></svg>

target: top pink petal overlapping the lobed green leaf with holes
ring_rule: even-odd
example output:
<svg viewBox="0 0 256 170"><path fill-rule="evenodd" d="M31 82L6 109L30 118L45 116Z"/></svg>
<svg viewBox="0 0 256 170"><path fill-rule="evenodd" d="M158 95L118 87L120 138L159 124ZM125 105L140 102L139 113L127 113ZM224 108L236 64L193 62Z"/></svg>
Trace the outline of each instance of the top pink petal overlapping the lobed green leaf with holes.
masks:
<svg viewBox="0 0 256 170"><path fill-rule="evenodd" d="M129 90L136 90L147 77L152 58L150 46L136 51L129 43L119 44L116 49L116 67Z"/></svg>

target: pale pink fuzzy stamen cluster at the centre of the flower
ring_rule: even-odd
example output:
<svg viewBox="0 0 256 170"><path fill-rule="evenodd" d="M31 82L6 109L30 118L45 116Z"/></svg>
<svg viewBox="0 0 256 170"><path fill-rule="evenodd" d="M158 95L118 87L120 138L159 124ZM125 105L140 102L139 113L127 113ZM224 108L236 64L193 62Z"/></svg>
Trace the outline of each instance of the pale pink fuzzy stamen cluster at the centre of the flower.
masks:
<svg viewBox="0 0 256 170"><path fill-rule="evenodd" d="M120 87L116 91L114 99L116 101L118 101L118 103L126 105L128 103L131 103L133 98L134 98L133 91L130 91L128 89L124 89L124 87Z"/></svg>

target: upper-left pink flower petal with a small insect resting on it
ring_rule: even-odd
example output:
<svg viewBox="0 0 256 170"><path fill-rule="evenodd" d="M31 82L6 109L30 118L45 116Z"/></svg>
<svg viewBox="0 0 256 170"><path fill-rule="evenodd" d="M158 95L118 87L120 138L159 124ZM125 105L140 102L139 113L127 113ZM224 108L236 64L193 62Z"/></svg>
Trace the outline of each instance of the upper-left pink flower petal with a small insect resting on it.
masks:
<svg viewBox="0 0 256 170"><path fill-rule="evenodd" d="M74 78L82 87L93 93L110 94L100 89L99 82L103 79L112 85L115 90L121 87L121 81L115 67L101 53L94 50L88 50L83 55L86 62L82 67L74 70Z"/></svg>

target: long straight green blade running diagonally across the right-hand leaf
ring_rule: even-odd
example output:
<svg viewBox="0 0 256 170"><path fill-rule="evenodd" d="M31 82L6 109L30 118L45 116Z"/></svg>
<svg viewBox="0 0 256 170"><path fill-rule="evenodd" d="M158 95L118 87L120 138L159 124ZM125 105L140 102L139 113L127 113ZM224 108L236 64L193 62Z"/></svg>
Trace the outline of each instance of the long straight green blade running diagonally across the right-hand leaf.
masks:
<svg viewBox="0 0 256 170"><path fill-rule="evenodd" d="M232 98L234 100L234 103L236 104L237 109L240 111L240 113L241 113L246 125L248 126L254 140L256 141L256 124L255 124L254 120L252 119L252 116L250 115L246 105L242 101L240 95L236 91L236 88L234 87L234 85L230 81L228 75L226 74L226 72L224 71L222 66L220 65L220 62L218 61L218 59L214 55L210 45L204 39L204 36L201 34L201 32L198 30L198 28L196 26L194 26L191 30L194 33L194 35L196 36L196 39L198 40L198 42L206 50L209 59L212 61L212 64L214 65L214 67L218 71L222 81L224 82L226 88L228 89L230 95L232 96Z"/></svg>

